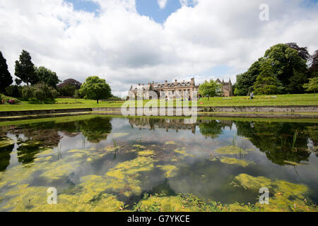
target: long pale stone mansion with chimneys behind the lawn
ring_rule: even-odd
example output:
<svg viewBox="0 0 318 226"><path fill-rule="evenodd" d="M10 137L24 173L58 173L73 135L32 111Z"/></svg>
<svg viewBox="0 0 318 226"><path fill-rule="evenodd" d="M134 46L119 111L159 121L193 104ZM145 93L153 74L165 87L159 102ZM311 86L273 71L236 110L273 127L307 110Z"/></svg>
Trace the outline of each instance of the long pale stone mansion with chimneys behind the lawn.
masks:
<svg viewBox="0 0 318 226"><path fill-rule="evenodd" d="M148 85L138 84L131 85L129 90L129 98L137 97L138 93L142 93L144 99L149 99L150 91L154 91L158 98L160 99L169 99L173 98L182 98L188 100L192 98L192 94L199 90L199 85L195 85L194 78L191 78L191 81L180 81L168 83L148 83Z"/></svg>

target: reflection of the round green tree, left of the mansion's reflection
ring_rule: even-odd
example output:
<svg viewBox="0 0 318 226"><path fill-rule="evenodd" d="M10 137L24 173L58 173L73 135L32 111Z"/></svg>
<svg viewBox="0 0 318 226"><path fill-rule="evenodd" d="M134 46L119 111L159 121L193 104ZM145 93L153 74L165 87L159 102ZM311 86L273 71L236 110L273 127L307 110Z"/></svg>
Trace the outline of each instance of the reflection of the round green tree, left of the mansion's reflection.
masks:
<svg viewBox="0 0 318 226"><path fill-rule="evenodd" d="M112 124L109 118L96 117L81 121L80 130L88 141L98 143L107 138L112 131Z"/></svg>

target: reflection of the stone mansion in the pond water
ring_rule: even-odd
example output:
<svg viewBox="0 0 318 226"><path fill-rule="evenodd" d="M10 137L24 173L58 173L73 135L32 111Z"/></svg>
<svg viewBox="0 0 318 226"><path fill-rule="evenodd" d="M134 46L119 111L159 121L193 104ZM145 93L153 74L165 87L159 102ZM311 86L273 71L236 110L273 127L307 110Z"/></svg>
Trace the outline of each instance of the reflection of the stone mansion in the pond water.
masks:
<svg viewBox="0 0 318 226"><path fill-rule="evenodd" d="M178 130L191 130L192 133L196 133L196 123L184 124L184 119L151 119L151 118L131 118L129 119L131 127L138 129L174 129Z"/></svg>

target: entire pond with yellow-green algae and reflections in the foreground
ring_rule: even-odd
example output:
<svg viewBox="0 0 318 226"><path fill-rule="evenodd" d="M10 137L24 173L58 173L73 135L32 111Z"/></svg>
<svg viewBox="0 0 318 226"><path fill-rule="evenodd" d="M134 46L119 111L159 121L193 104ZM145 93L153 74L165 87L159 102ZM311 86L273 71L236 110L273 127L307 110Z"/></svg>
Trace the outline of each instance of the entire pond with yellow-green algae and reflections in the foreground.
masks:
<svg viewBox="0 0 318 226"><path fill-rule="evenodd" d="M85 115L1 122L1 211L317 211L318 125ZM47 189L57 189L57 204ZM259 189L269 204L259 204Z"/></svg>

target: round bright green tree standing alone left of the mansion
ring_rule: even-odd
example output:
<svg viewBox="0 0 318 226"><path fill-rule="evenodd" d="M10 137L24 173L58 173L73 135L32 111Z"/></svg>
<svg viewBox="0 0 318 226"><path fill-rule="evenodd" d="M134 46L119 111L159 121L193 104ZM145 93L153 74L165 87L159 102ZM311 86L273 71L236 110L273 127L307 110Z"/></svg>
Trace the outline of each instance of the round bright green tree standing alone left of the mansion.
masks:
<svg viewBox="0 0 318 226"><path fill-rule="evenodd" d="M81 86L79 92L85 99L98 100L107 99L111 96L110 85L105 79L98 78L98 76L90 76L86 78L85 83Z"/></svg>

